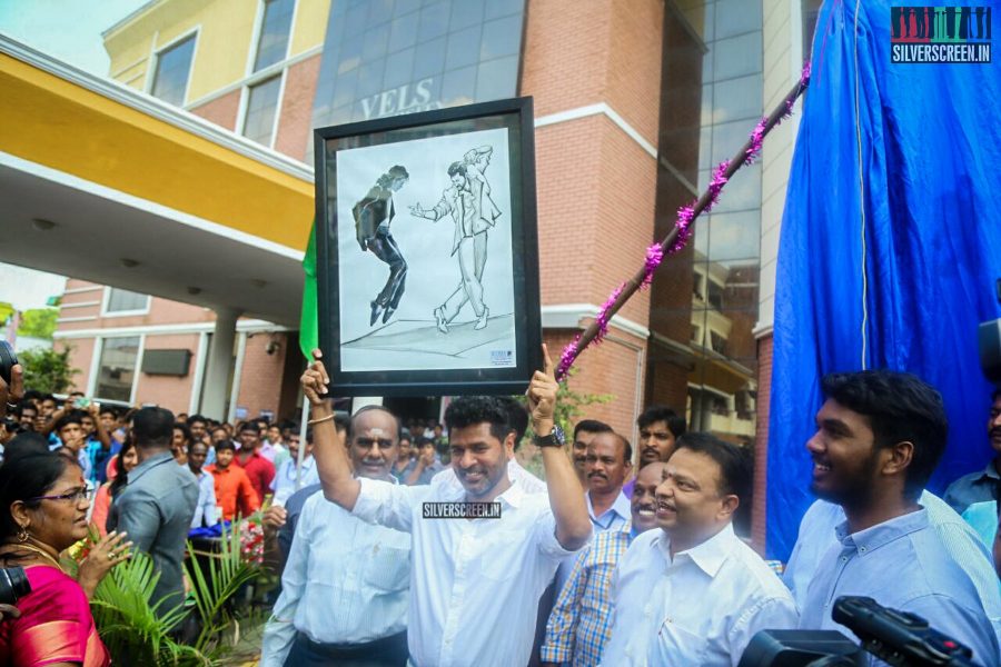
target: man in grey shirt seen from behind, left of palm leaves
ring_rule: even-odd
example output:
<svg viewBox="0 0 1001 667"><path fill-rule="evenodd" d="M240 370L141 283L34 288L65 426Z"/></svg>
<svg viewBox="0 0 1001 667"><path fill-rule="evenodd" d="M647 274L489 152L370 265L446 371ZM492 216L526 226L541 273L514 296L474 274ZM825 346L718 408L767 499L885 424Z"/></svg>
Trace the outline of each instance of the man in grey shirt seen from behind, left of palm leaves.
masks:
<svg viewBox="0 0 1001 667"><path fill-rule="evenodd" d="M151 605L162 603L165 615L184 600L181 561L195 506L198 482L170 452L174 414L162 408L142 408L132 417L131 439L139 465L129 474L126 489L111 505L109 530L128 532L136 548L152 557L160 573Z"/></svg>

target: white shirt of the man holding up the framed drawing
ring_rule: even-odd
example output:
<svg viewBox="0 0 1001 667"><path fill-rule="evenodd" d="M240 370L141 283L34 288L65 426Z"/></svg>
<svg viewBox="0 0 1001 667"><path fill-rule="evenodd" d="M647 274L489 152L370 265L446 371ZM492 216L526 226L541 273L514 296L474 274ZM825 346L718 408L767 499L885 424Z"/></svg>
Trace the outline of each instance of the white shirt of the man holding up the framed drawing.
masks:
<svg viewBox="0 0 1001 667"><path fill-rule="evenodd" d="M559 559L547 496L515 481L499 519L424 519L425 501L462 501L447 486L360 479L355 516L413 534L408 648L415 667L526 665L538 599Z"/></svg>

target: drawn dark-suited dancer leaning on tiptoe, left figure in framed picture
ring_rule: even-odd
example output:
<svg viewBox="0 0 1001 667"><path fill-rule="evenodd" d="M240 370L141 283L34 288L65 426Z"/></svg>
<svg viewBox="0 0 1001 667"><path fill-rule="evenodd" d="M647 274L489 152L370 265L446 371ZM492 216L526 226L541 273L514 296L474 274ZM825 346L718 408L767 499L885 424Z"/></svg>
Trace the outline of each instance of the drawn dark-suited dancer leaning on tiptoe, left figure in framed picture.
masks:
<svg viewBox="0 0 1001 667"><path fill-rule="evenodd" d="M351 209L355 217L355 236L361 251L371 251L373 255L389 265L389 277L386 279L386 285L370 303L371 316L368 326L375 325L380 313L383 323L389 321L403 298L407 279L407 262L389 231L389 223L396 215L393 193L399 191L409 178L410 175L407 173L405 167L399 165L393 167L378 178L368 195Z"/></svg>

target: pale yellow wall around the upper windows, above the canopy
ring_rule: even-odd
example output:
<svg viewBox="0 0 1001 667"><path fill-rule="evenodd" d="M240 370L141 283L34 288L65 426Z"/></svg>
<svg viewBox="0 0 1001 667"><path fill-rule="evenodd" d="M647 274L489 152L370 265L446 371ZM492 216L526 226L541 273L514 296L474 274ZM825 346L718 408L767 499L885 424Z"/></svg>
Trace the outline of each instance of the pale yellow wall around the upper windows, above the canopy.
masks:
<svg viewBox="0 0 1001 667"><path fill-rule="evenodd" d="M323 46L330 0L297 0L289 57ZM146 90L152 74L151 54L198 31L195 66L185 103L246 78L260 0L159 0L105 36L110 74Z"/></svg>

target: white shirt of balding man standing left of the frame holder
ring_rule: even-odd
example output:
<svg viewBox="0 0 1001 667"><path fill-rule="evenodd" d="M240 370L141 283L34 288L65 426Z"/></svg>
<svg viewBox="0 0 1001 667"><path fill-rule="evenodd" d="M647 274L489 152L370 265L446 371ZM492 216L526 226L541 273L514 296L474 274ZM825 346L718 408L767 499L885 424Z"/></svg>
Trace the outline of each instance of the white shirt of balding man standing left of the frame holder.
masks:
<svg viewBox="0 0 1001 667"><path fill-rule="evenodd" d="M283 667L296 633L364 644L407 628L410 536L371 526L314 494L303 506L260 667Z"/></svg>

